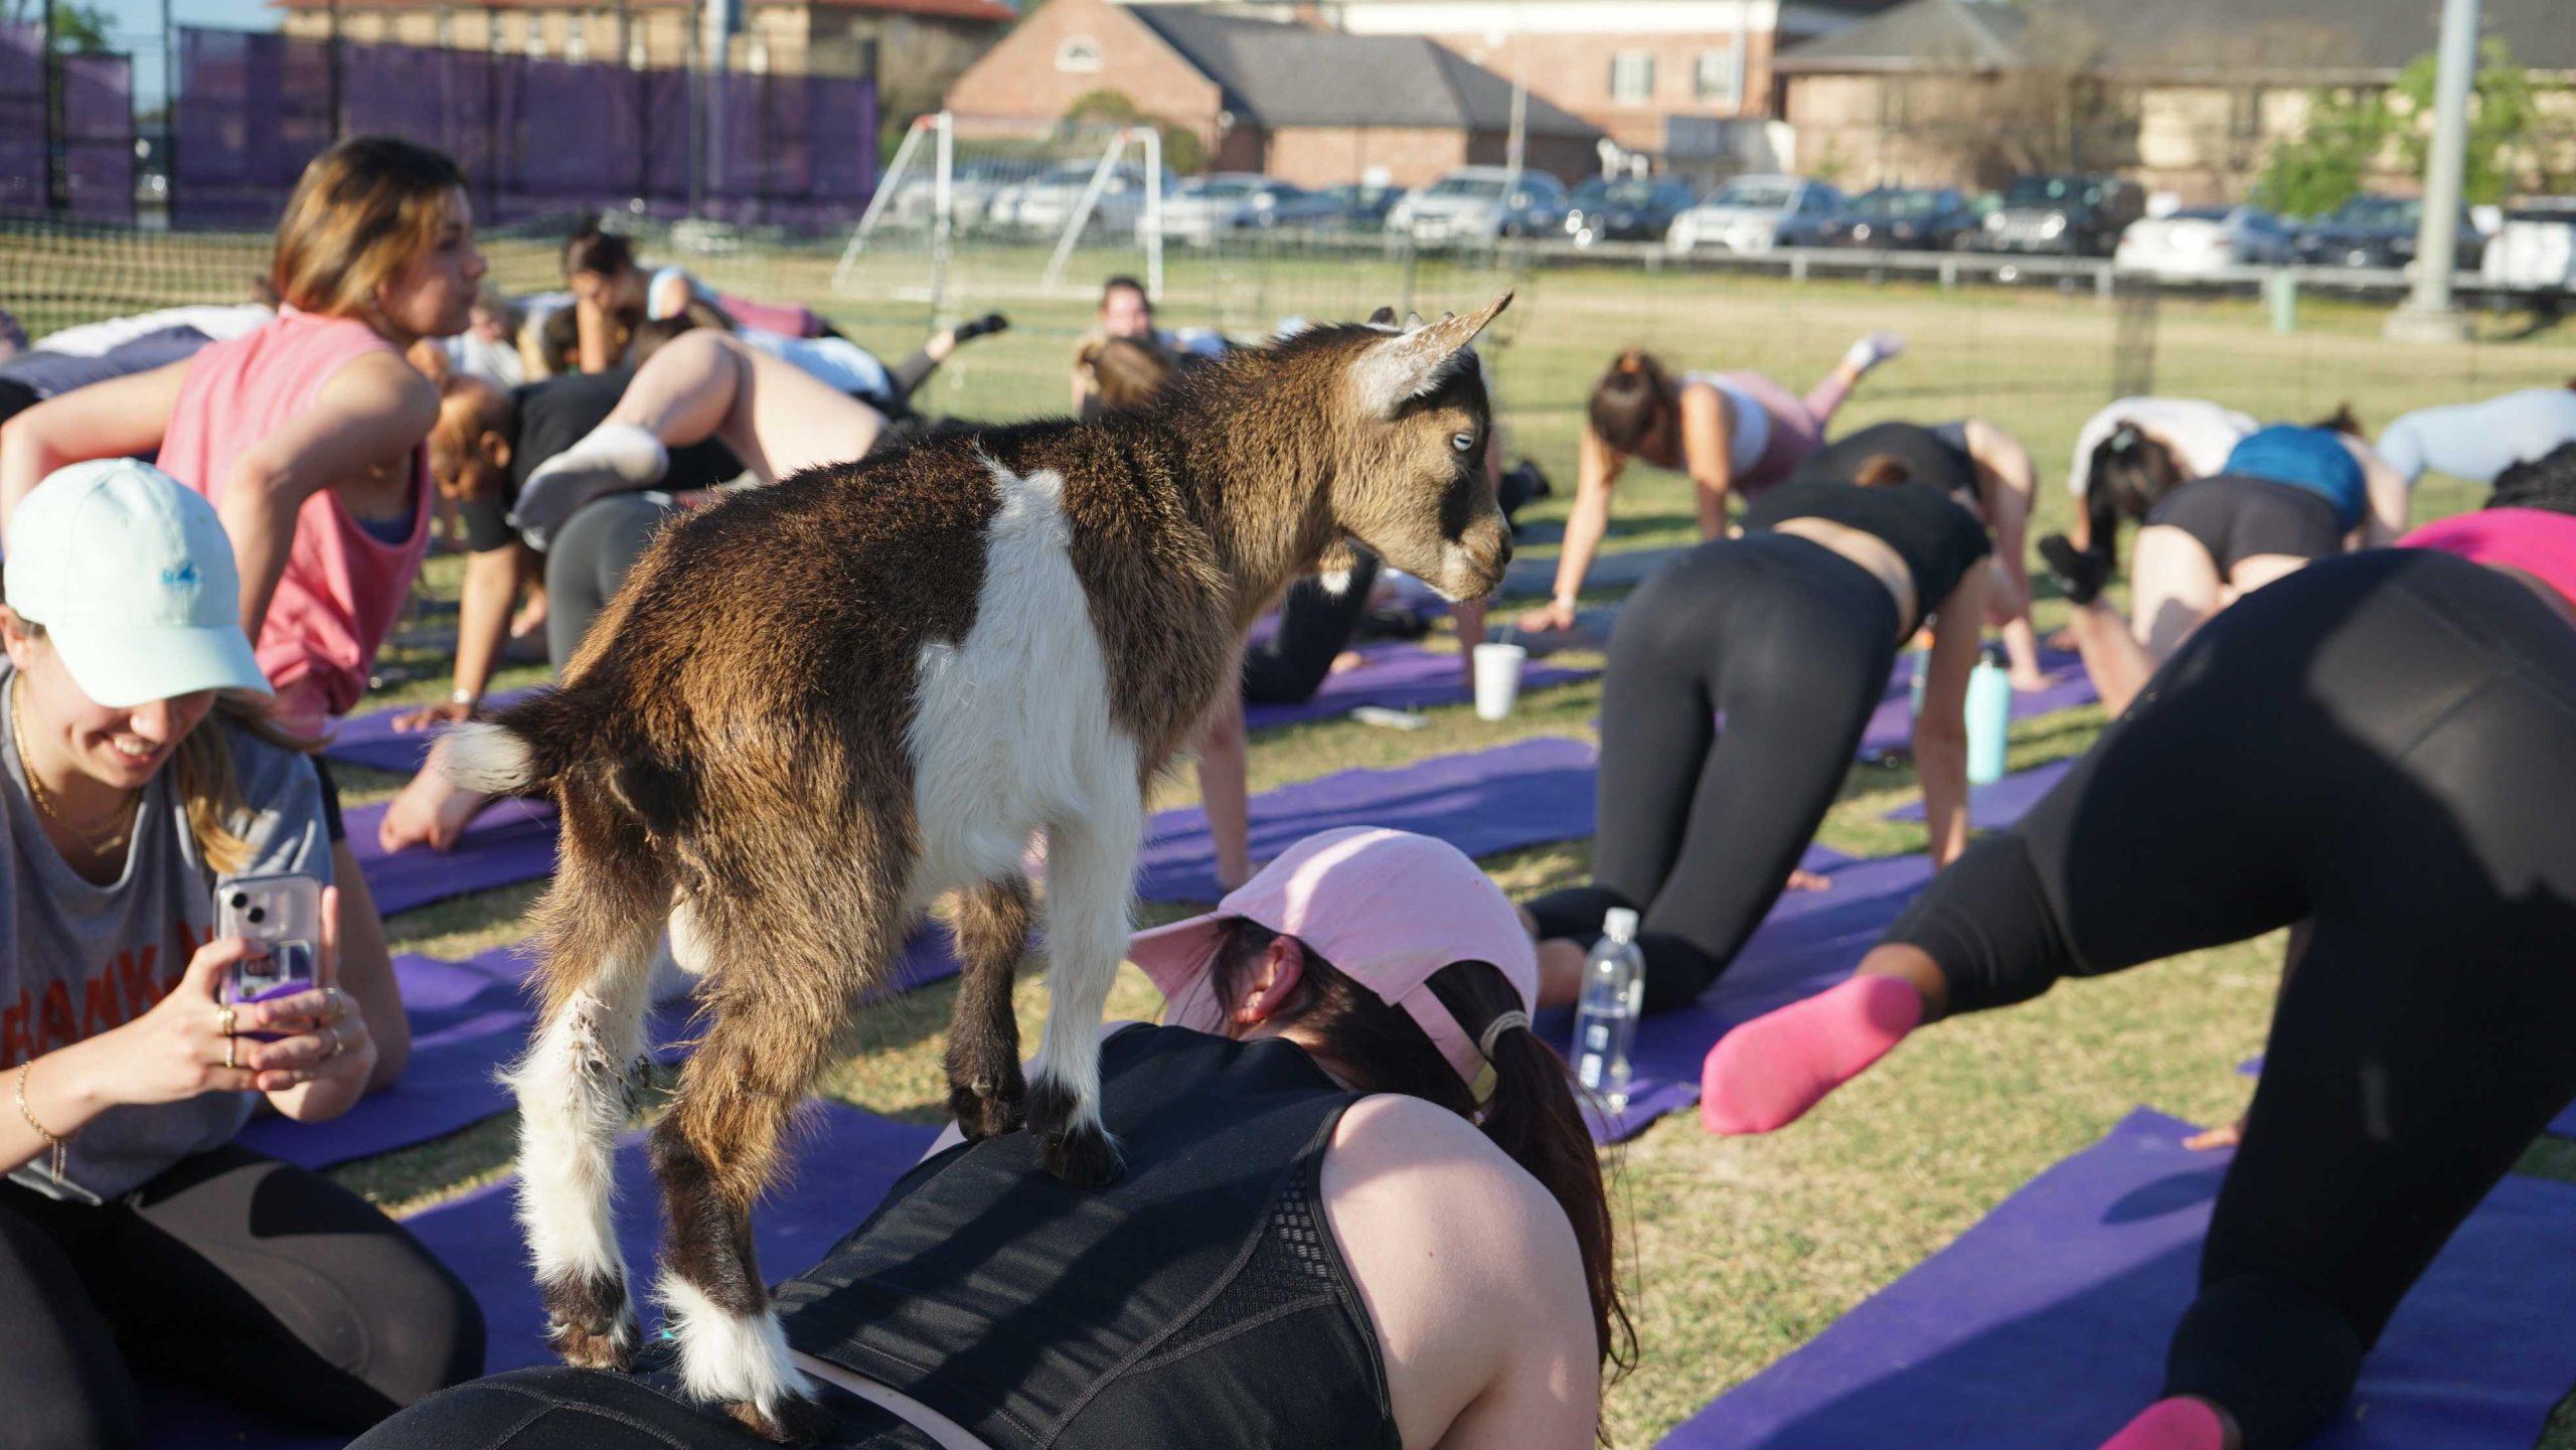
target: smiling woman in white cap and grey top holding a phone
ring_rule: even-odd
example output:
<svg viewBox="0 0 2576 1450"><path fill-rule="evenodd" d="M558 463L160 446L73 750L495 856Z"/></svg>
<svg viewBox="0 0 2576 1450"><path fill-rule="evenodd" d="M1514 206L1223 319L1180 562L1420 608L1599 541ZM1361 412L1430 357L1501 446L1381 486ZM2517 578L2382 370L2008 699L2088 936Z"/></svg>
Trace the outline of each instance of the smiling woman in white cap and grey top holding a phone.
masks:
<svg viewBox="0 0 2576 1450"><path fill-rule="evenodd" d="M368 1087L392 981L224 1007L222 886L332 878L322 786L260 706L214 505L75 464L10 523L0 639L0 1445L139 1445L137 1373L355 1435L482 1370L482 1316L392 1218L232 1136ZM255 961L255 958L252 958ZM384 971L376 966L374 971Z"/></svg>

